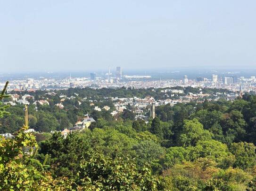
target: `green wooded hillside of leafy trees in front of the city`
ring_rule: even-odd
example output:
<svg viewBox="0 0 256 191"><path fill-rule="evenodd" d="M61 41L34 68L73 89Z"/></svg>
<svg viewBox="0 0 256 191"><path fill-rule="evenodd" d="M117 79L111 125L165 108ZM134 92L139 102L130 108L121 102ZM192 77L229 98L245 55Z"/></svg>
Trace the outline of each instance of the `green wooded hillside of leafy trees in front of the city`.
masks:
<svg viewBox="0 0 256 191"><path fill-rule="evenodd" d="M9 99L7 85L1 100ZM24 125L24 106L0 105L0 133L15 135L0 136L0 190L256 191L256 96L158 106L157 117L148 123L134 119L132 106L114 118L114 103L104 98L162 99L160 91L36 91L34 98L48 98L50 105L28 107L29 127ZM55 106L59 95L74 93L79 96L65 100L64 109ZM111 109L94 111L83 97ZM96 122L66 138L60 134L85 114ZM28 128L38 132L25 133Z"/></svg>

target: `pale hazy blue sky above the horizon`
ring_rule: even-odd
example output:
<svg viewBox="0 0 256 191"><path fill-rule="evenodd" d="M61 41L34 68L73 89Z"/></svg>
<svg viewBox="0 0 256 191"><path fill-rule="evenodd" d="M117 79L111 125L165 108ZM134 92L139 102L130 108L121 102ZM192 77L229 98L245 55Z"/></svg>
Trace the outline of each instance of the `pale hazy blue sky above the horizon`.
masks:
<svg viewBox="0 0 256 191"><path fill-rule="evenodd" d="M0 72L256 68L256 0L0 0Z"/></svg>

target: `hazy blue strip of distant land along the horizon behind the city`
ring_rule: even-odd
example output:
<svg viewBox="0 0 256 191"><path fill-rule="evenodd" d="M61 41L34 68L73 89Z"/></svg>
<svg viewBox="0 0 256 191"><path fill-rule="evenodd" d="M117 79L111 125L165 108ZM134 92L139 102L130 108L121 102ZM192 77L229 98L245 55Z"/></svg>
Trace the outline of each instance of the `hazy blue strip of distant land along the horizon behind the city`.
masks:
<svg viewBox="0 0 256 191"><path fill-rule="evenodd" d="M116 69L120 68L120 72ZM22 80L27 78L34 79L64 79L64 78L89 78L93 75L94 79L113 79L118 77L123 80L132 80L136 78L137 80L171 80L171 79L183 79L184 76L187 76L188 79L193 79L196 81L204 81L204 79L212 80L216 82L216 79L222 78L224 81L225 77L239 78L243 76L245 78L250 78L251 76L256 76L256 70L196 70L196 69L173 69L173 70L154 70L154 69L125 69L120 66L111 68L103 68L101 70L88 70L88 71L67 71L67 72L17 72L17 73L0 73L0 82L6 80ZM122 76L122 77L121 77ZM215 76L215 77L213 77ZM215 79L214 79L215 78ZM214 80L213 80L214 79ZM236 80L233 80L234 82ZM186 83L185 83L186 84Z"/></svg>

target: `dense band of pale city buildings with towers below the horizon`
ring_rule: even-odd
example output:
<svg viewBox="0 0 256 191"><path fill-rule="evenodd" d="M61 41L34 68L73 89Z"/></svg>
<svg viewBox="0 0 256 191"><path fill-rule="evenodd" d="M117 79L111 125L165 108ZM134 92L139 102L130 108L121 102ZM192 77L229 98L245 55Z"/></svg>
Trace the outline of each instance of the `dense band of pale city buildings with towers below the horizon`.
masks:
<svg viewBox="0 0 256 191"><path fill-rule="evenodd" d="M91 73L90 77L72 77L71 75L63 79L37 77L37 79L27 78L12 80L9 83L8 90L16 91L34 91L34 90L57 90L68 88L167 88L167 87L201 87L201 88L224 88L231 91L255 92L256 77L255 76L237 76L237 75L217 75L212 74L210 79L204 76L198 76L191 79L189 76L183 76L182 79L152 79L149 75L123 75L121 67L116 67L116 71L111 73L110 68L106 74ZM0 82L3 88L5 82Z"/></svg>

